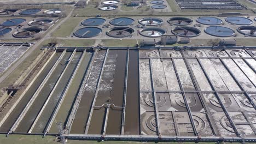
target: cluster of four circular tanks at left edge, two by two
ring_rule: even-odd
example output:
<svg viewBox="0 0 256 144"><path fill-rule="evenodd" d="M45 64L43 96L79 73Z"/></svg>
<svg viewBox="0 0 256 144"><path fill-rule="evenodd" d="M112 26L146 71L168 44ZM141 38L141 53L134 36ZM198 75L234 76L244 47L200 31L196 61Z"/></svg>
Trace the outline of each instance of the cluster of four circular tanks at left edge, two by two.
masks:
<svg viewBox="0 0 256 144"><path fill-rule="evenodd" d="M20 26L22 23L24 23L26 19L10 19L2 22L0 24L0 37L3 37L5 34L10 33L13 29L10 28L12 26ZM32 27L27 27L27 28L22 28L19 29L18 31L13 33L13 36L15 38L28 38L28 37L33 37L39 32L42 32L43 29L39 28L40 26L46 26L46 25L51 25L54 22L53 19L47 19L47 18L42 18L42 19L36 19L28 22L29 26Z"/></svg>

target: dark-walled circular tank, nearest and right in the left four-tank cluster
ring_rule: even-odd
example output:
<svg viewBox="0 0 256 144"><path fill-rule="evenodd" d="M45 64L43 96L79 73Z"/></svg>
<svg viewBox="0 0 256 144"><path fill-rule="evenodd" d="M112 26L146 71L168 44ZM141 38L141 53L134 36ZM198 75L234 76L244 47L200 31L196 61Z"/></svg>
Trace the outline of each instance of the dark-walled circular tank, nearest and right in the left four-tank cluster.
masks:
<svg viewBox="0 0 256 144"><path fill-rule="evenodd" d="M29 38L33 37L34 35L42 32L42 28L39 27L28 27L28 28L23 28L13 34L13 37L15 38Z"/></svg>

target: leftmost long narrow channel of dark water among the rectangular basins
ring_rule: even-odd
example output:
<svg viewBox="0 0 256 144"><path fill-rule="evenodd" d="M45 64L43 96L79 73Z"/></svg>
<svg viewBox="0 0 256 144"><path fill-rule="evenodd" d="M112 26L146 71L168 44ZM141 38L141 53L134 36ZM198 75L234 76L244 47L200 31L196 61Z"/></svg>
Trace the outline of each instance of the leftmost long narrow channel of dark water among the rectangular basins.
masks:
<svg viewBox="0 0 256 144"><path fill-rule="evenodd" d="M10 113L10 116L5 120L2 127L0 128L0 131L7 132L11 128L11 125L15 122L16 118L20 115L21 111L25 108L28 101L33 96L34 92L38 89L40 86L40 83L43 82L44 77L49 73L50 69L53 67L53 65L56 63L57 59L59 59L61 53L56 53L53 59L46 65L45 69L42 71L41 74L39 74L36 81L34 81L33 85L28 89L27 93L24 95L24 97L20 100L18 105L14 108L14 110Z"/></svg>

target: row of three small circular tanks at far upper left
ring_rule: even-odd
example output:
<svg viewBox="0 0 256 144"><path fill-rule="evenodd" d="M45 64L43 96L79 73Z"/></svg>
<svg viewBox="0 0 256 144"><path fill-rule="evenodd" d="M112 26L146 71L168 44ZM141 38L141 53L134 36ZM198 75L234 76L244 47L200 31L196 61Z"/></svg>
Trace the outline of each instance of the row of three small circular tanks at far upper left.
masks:
<svg viewBox="0 0 256 144"><path fill-rule="evenodd" d="M14 14L16 11L18 11L18 9L4 9L4 10L0 10L0 15L11 15ZM19 14L20 15L34 15L39 13L39 11L42 11L42 9L25 9L22 10ZM60 14L62 13L61 9L49 9L49 10L45 10L43 11L43 14L46 15L56 15L56 14Z"/></svg>

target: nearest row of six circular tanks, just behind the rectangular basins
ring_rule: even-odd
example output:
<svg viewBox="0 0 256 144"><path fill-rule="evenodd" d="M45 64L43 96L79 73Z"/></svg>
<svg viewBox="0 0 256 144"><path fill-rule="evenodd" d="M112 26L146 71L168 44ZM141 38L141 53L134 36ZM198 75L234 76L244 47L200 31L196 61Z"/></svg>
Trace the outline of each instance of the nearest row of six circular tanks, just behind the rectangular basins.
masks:
<svg viewBox="0 0 256 144"><path fill-rule="evenodd" d="M205 28L205 33L210 34L215 37L231 37L235 34L235 31L222 26L210 26ZM254 26L241 26L237 28L237 31L244 35L249 35L251 37L256 37L256 27ZM131 37L134 33L134 29L131 27L113 27L110 28L106 34L109 37L114 38L124 38ZM74 35L79 38L91 38L96 37L102 33L102 29L98 27L84 27L80 28L74 32ZM138 31L139 34L144 37L161 37L167 33L166 29L159 27L147 27ZM188 26L177 26L172 29L172 33L180 37L196 37L201 34L201 31L194 27Z"/></svg>

